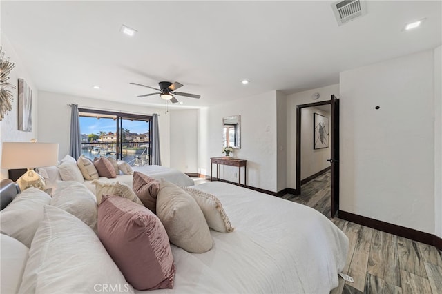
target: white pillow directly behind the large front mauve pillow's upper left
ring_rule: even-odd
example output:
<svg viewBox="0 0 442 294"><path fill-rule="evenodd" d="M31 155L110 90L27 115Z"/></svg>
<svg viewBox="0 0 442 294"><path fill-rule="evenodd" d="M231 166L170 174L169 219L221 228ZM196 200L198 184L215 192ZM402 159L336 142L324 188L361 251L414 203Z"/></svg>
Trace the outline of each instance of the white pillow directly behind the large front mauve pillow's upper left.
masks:
<svg viewBox="0 0 442 294"><path fill-rule="evenodd" d="M84 184L73 181L57 182L57 189L50 199L50 205L78 217L97 232L97 200Z"/></svg>

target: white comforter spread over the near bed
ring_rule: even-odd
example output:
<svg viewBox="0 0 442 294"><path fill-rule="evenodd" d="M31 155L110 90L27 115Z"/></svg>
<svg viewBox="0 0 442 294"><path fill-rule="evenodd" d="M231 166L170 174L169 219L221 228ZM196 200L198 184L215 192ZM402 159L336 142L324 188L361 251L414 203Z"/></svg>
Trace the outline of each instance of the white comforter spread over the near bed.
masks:
<svg viewBox="0 0 442 294"><path fill-rule="evenodd" d="M202 254L172 245L175 286L149 293L329 293L338 286L348 238L327 217L223 182L195 188L221 200L235 231L211 231L215 245Z"/></svg>

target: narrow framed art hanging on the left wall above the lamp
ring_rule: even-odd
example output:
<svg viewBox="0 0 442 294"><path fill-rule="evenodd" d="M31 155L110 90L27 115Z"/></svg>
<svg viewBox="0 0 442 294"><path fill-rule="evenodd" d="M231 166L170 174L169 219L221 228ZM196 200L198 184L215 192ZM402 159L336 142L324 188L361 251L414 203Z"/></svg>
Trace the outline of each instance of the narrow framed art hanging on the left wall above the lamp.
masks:
<svg viewBox="0 0 442 294"><path fill-rule="evenodd" d="M32 131L32 90L24 79L19 79L19 130Z"/></svg>

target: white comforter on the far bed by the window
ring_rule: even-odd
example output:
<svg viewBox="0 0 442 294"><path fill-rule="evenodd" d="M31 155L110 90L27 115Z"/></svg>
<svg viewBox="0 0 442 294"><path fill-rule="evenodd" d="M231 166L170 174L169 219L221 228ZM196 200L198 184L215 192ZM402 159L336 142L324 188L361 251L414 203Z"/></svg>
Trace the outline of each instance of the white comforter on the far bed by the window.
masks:
<svg viewBox="0 0 442 294"><path fill-rule="evenodd" d="M163 178L177 186L193 186L195 184L191 177L180 172L180 170L166 168L165 166L133 166L132 169L134 171L144 173L144 175L148 175L149 177L153 177L154 179ZM132 177L132 175L117 175L115 179L99 177L99 181L104 183L120 182L132 188ZM92 181L85 180L83 184L95 195L95 185L92 184Z"/></svg>

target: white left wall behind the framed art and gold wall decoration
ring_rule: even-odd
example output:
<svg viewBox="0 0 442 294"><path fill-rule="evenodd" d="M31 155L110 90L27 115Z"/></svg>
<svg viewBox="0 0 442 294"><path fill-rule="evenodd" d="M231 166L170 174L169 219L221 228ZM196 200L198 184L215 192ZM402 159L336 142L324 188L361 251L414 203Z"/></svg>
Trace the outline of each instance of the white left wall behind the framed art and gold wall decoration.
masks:
<svg viewBox="0 0 442 294"><path fill-rule="evenodd" d="M2 52L5 52L5 57L9 57L10 61L14 63L14 68L10 72L9 81L10 84L15 85L15 90L11 89L13 93L14 101L12 102L12 110L8 112L8 115L0 121L0 141L3 142L19 142L19 141L30 141L30 139L39 139L37 137L37 128L38 128L38 116L37 116L37 103L38 99L38 91L35 87L32 78L26 72L26 67L21 63L20 57L17 56L14 47L8 40L5 34L1 34L1 46ZM32 131L24 132L22 130L18 130L18 104L17 104L17 84L18 79L25 79L26 83L32 89ZM41 141L39 139L39 141ZM1 146L0 146L0 166L1 166ZM27 166L23 166L26 168ZM8 178L8 170L1 170L1 179Z"/></svg>

